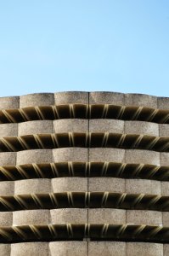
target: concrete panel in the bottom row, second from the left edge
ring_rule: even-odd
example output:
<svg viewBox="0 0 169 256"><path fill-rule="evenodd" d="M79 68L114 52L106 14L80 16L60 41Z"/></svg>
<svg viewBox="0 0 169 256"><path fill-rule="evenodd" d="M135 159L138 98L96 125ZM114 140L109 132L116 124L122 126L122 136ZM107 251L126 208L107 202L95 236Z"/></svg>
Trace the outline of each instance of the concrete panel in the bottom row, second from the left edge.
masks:
<svg viewBox="0 0 169 256"><path fill-rule="evenodd" d="M48 242L20 242L11 244L10 256L48 256Z"/></svg>

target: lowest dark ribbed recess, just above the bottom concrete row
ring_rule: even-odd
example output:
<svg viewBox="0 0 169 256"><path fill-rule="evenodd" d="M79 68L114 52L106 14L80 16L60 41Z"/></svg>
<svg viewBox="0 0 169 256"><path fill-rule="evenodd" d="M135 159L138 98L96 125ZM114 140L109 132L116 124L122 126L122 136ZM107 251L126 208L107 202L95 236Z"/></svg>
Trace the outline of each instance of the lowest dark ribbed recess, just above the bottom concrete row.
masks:
<svg viewBox="0 0 169 256"><path fill-rule="evenodd" d="M71 230L71 232L70 232ZM168 243L168 227L129 224L51 224L20 225L0 227L1 242L22 241L60 241L83 240L96 241L149 241ZM38 234L38 236L35 235ZM25 236L29 234L29 236Z"/></svg>

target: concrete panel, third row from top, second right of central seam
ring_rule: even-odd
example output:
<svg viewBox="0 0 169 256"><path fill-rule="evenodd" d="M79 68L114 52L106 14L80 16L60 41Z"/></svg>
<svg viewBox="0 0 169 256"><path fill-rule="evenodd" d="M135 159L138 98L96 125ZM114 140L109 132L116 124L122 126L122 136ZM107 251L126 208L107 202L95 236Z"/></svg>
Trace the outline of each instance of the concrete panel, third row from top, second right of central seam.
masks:
<svg viewBox="0 0 169 256"><path fill-rule="evenodd" d="M160 165L160 153L150 150L126 149L125 163Z"/></svg>

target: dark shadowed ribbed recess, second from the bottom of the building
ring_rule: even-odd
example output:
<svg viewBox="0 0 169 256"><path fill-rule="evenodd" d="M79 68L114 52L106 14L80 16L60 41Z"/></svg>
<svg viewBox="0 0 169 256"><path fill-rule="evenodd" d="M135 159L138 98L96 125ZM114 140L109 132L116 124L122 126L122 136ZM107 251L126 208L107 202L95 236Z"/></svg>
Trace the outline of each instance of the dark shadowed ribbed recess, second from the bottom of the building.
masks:
<svg viewBox="0 0 169 256"><path fill-rule="evenodd" d="M37 193L0 196L0 212L36 210L39 208L114 208L168 212L168 201L168 195L127 194L101 191Z"/></svg>

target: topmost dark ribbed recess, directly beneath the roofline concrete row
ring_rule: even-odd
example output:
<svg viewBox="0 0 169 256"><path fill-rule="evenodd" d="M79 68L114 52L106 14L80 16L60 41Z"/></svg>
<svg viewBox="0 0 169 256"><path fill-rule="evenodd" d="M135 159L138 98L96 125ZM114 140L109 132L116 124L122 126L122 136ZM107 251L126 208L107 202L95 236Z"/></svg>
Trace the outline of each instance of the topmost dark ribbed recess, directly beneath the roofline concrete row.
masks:
<svg viewBox="0 0 169 256"><path fill-rule="evenodd" d="M61 104L0 110L0 123L54 119L119 119L169 124L169 108L115 106L111 104Z"/></svg>

